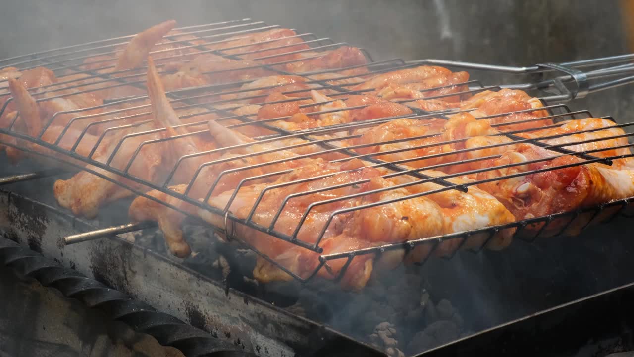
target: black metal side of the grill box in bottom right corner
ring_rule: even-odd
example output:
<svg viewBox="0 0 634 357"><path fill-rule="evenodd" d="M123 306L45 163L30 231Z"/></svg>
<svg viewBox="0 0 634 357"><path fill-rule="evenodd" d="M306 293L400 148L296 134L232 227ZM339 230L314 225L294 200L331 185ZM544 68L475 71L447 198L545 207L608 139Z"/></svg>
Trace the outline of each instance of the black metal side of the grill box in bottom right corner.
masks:
<svg viewBox="0 0 634 357"><path fill-rule="evenodd" d="M509 321L416 357L575 356L584 346L631 349L633 298L634 283L626 284ZM631 356L631 352L625 355Z"/></svg>

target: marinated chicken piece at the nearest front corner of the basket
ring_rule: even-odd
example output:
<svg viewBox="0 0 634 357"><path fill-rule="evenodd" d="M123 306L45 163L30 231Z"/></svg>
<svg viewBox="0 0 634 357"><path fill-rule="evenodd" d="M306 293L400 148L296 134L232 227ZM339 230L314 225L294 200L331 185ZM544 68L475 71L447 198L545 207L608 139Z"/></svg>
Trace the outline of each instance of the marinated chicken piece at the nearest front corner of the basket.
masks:
<svg viewBox="0 0 634 357"><path fill-rule="evenodd" d="M313 191L323 187L370 179L370 182L365 184L348 185L340 189L330 189L290 199L284 206L280 219L275 224L276 230L290 235L299 224L299 219L306 211L307 206L311 203L393 185L380 177L380 171L364 167L359 160L338 164L313 161L313 163L295 169L292 173L283 175L273 184L328 174L330 176L324 179L311 180L303 184L288 185L268 191L260 205L257 206L253 217L254 222L268 227L273 215L280 207L281 201L290 193ZM231 204L230 212L237 217L246 218L262 189L268 186L267 184L261 184L241 189ZM233 192L231 191L224 192L216 198L212 198L210 204L218 208L224 208L228 205L228 199L232 194ZM382 199L407 196L407 194L408 192L403 189L396 189L382 194L366 196L365 198L344 199L332 204L316 206L311 210L304 224L302 224L297 238L306 243L316 243L318 232L321 232L325 227L333 210L351 208L359 205L362 201L364 203L380 201ZM206 210L200 210L199 215L212 224L220 224L220 221L223 220L223 217L214 215ZM403 220L404 215L411 215L411 220ZM429 201L429 199L409 199L390 205L378 206L378 208L337 215L326 228L320 246L323 248L324 254L329 254L347 252L347 250L351 249L365 248L392 241L404 241L440 234L442 232L442 216L437 205ZM235 234L300 276L306 277L319 264L318 254L281 239L273 238L262 232L236 224ZM330 269L321 269L319 274L324 278L335 278L342 266L343 262L334 261L329 263ZM342 285L347 288L359 289L365 286L370 273L372 273L372 256L366 255L354 259L353 264L348 267L346 275L342 279ZM257 280L263 282L288 280L290 278L286 273L263 260L259 260L256 269L254 269L254 276Z"/></svg>

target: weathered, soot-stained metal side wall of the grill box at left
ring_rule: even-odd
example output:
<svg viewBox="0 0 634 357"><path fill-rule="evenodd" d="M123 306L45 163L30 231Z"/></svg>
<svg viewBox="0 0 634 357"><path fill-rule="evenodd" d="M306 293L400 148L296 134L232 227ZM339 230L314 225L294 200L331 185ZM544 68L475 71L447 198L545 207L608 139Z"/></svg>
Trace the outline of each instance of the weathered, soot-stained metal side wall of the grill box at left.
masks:
<svg viewBox="0 0 634 357"><path fill-rule="evenodd" d="M319 356L324 348L337 346L342 353L358 348L366 355L383 355L125 239L63 244L63 236L93 228L53 207L0 191L0 229L7 238L244 351L259 356Z"/></svg>

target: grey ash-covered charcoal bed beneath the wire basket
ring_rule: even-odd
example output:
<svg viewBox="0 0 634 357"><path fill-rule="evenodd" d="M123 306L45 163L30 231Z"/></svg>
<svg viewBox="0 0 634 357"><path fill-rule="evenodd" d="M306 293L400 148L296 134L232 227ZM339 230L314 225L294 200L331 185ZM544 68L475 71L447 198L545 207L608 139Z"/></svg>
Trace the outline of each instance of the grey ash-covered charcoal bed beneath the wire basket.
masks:
<svg viewBox="0 0 634 357"><path fill-rule="evenodd" d="M358 293L319 278L305 285L297 281L263 285L253 278L254 252L224 242L205 227L186 226L184 236L193 251L186 259L169 254L158 229L145 229L127 239L228 287L351 335L389 356L418 354L470 333L461 314L442 293L434 293L434 286L418 266L378 271Z"/></svg>

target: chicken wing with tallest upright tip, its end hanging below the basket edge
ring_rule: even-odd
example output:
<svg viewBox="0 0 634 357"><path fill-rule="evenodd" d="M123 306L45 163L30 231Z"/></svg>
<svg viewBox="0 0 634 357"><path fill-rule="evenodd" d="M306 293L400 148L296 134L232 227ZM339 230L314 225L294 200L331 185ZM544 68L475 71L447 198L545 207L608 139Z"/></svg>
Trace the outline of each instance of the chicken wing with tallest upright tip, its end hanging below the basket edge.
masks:
<svg viewBox="0 0 634 357"><path fill-rule="evenodd" d="M152 100L154 116L157 121L159 121L160 125L168 128L167 135L169 137L174 137L182 133L182 131L173 128L174 126L180 125L181 121L165 97L164 88L162 87L158 74L152 65L152 60L148 60L148 64L148 94ZM216 145L219 147L228 147L254 141L244 137L240 133L228 130L213 121L210 121L209 125L210 133L212 137L214 137L214 142L212 144L201 140L170 140L168 142L170 147L167 151L172 153L171 160L176 161L179 157L193 154L195 152L209 151L213 147L216 147ZM184 194L187 190L188 184L191 183L190 190L187 192L188 196L193 199L204 198L211 189L212 185L214 185L216 180L219 179L219 173L225 172L226 170L239 169L243 166L272 163L276 160L294 158L294 156L297 156L297 154L289 151L276 151L271 153L263 152L269 148L270 147L266 144L254 143L253 145L249 145L243 149L238 149L237 152L234 151L232 153L223 154L223 156L210 153L208 155L195 156L191 159L184 159L176 171L178 175L175 177L175 180L173 180L176 182L176 185L171 186L170 189L178 192L179 194ZM241 159L233 159L236 154L257 152L263 153L261 155L245 156ZM196 175L198 166L214 160L217 162L216 165L209 165ZM276 172L286 168L292 168L295 165L301 165L301 163L301 159L295 159L280 163L272 163L271 165L256 167L249 170L239 170L233 173L228 173L218 180L214 192L219 193L231 189L245 177L257 176L266 172ZM148 192L148 195L154 198L159 198L186 213L194 213L196 210L195 206L186 203L182 199L167 195L164 192L151 191ZM155 220L158 222L160 228L164 232L165 241L174 255L177 255L178 257L186 257L190 254L190 247L184 241L183 232L181 231L181 224L185 219L185 215L182 212L178 212L165 205L161 205L151 199L139 197L136 198L131 205L129 214L130 217L136 221Z"/></svg>

